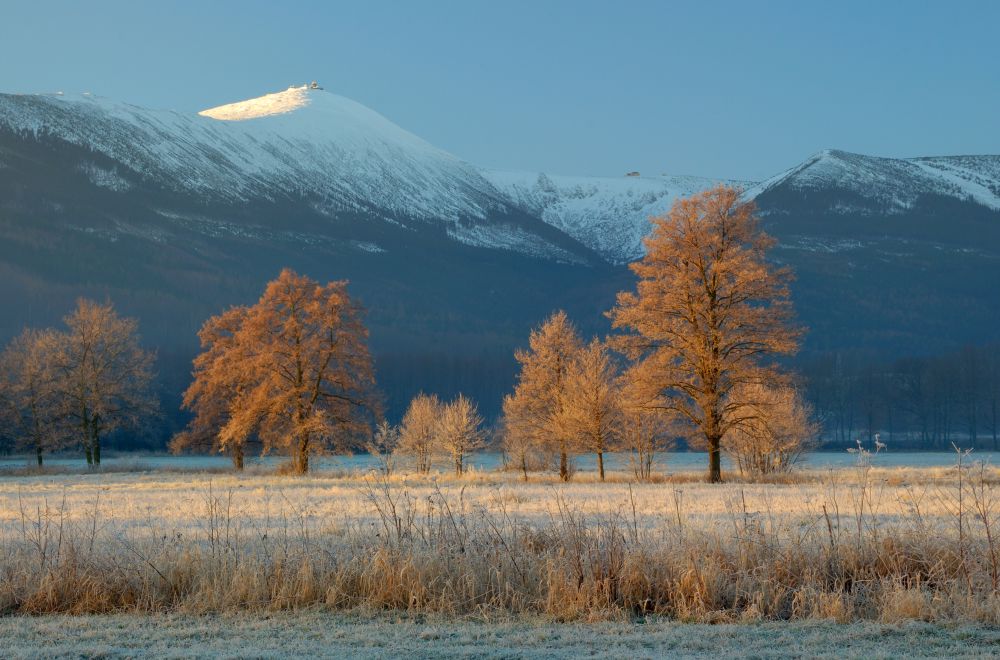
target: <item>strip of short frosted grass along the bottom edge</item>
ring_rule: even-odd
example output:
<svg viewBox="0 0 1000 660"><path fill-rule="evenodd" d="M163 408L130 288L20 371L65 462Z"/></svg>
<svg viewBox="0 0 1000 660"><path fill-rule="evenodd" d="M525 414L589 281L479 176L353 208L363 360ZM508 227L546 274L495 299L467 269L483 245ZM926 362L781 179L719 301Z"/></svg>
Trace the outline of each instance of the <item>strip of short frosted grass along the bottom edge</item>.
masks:
<svg viewBox="0 0 1000 660"><path fill-rule="evenodd" d="M1000 630L975 625L552 624L306 611L260 615L0 619L5 657L986 658Z"/></svg>

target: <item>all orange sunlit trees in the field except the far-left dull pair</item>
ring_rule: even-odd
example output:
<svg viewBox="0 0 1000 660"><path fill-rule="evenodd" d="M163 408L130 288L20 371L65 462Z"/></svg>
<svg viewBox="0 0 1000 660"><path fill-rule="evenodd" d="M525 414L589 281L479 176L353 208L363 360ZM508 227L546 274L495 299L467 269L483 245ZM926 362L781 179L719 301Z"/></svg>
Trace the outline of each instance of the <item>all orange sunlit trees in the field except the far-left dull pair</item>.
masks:
<svg viewBox="0 0 1000 660"><path fill-rule="evenodd" d="M525 474L535 456L558 456L568 479L570 456L594 452L603 478L604 453L627 446L648 476L680 422L708 449L711 481L721 479L727 437L744 453L768 441L769 453L741 461L745 469L787 464L795 451L782 443L810 433L808 411L772 358L793 353L800 331L790 324L790 273L766 261L773 240L752 204L724 186L679 200L645 244L632 264L635 292L608 313L617 335L584 346L557 312L517 353L517 386L503 405L508 454ZM304 473L310 454L363 445L381 419L367 331L345 282L321 286L286 270L255 305L209 319L199 337L184 397L194 419L177 450L225 451L241 467L257 441ZM790 422L793 410L802 417ZM380 426L373 448L408 452L422 471L444 453L461 474L481 425L467 398L421 395L399 429Z"/></svg>

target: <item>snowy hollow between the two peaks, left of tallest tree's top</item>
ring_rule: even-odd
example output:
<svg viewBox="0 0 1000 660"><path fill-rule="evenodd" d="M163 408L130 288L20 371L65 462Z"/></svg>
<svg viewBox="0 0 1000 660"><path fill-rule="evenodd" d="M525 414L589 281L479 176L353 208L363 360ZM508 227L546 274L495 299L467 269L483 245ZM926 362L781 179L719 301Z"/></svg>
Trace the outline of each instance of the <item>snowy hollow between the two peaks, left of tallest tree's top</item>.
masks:
<svg viewBox="0 0 1000 660"><path fill-rule="evenodd" d="M515 204L614 263L642 256L650 217L663 215L678 197L722 182L688 176L570 177L497 170L484 174Z"/></svg>

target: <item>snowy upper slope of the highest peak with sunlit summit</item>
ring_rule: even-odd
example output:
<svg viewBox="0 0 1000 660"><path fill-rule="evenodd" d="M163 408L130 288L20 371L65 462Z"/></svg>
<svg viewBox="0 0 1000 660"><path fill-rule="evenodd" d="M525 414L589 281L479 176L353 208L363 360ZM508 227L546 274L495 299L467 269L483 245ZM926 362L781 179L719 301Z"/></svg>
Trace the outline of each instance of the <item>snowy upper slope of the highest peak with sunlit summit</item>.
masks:
<svg viewBox="0 0 1000 660"><path fill-rule="evenodd" d="M198 115L92 95L0 95L0 124L87 146L212 198L308 195L329 214L425 220L503 207L476 168L354 101L305 86Z"/></svg>

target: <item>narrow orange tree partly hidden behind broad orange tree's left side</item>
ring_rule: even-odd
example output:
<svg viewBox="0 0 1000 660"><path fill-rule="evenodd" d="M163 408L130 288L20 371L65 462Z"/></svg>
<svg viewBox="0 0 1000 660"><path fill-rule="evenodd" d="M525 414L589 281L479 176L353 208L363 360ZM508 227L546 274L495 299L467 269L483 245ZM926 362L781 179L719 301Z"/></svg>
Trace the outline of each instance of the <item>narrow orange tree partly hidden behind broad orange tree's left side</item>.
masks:
<svg viewBox="0 0 1000 660"><path fill-rule="evenodd" d="M236 470L243 470L247 437L223 439L219 431L229 422L232 403L252 385L251 374L241 367L242 347L236 343L247 313L247 307L233 307L208 319L198 332L202 352L194 359L194 381L182 403L194 417L170 441L176 453L192 449L228 453Z"/></svg>

